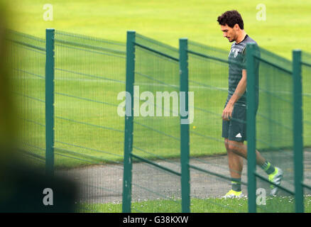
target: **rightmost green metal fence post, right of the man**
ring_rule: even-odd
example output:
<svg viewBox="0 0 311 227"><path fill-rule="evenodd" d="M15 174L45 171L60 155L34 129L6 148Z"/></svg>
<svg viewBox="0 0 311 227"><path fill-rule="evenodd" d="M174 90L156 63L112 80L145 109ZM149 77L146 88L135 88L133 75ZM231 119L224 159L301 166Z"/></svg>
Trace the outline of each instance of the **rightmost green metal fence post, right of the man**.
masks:
<svg viewBox="0 0 311 227"><path fill-rule="evenodd" d="M303 213L303 141L301 50L293 50L293 138L295 167L295 211Z"/></svg>

